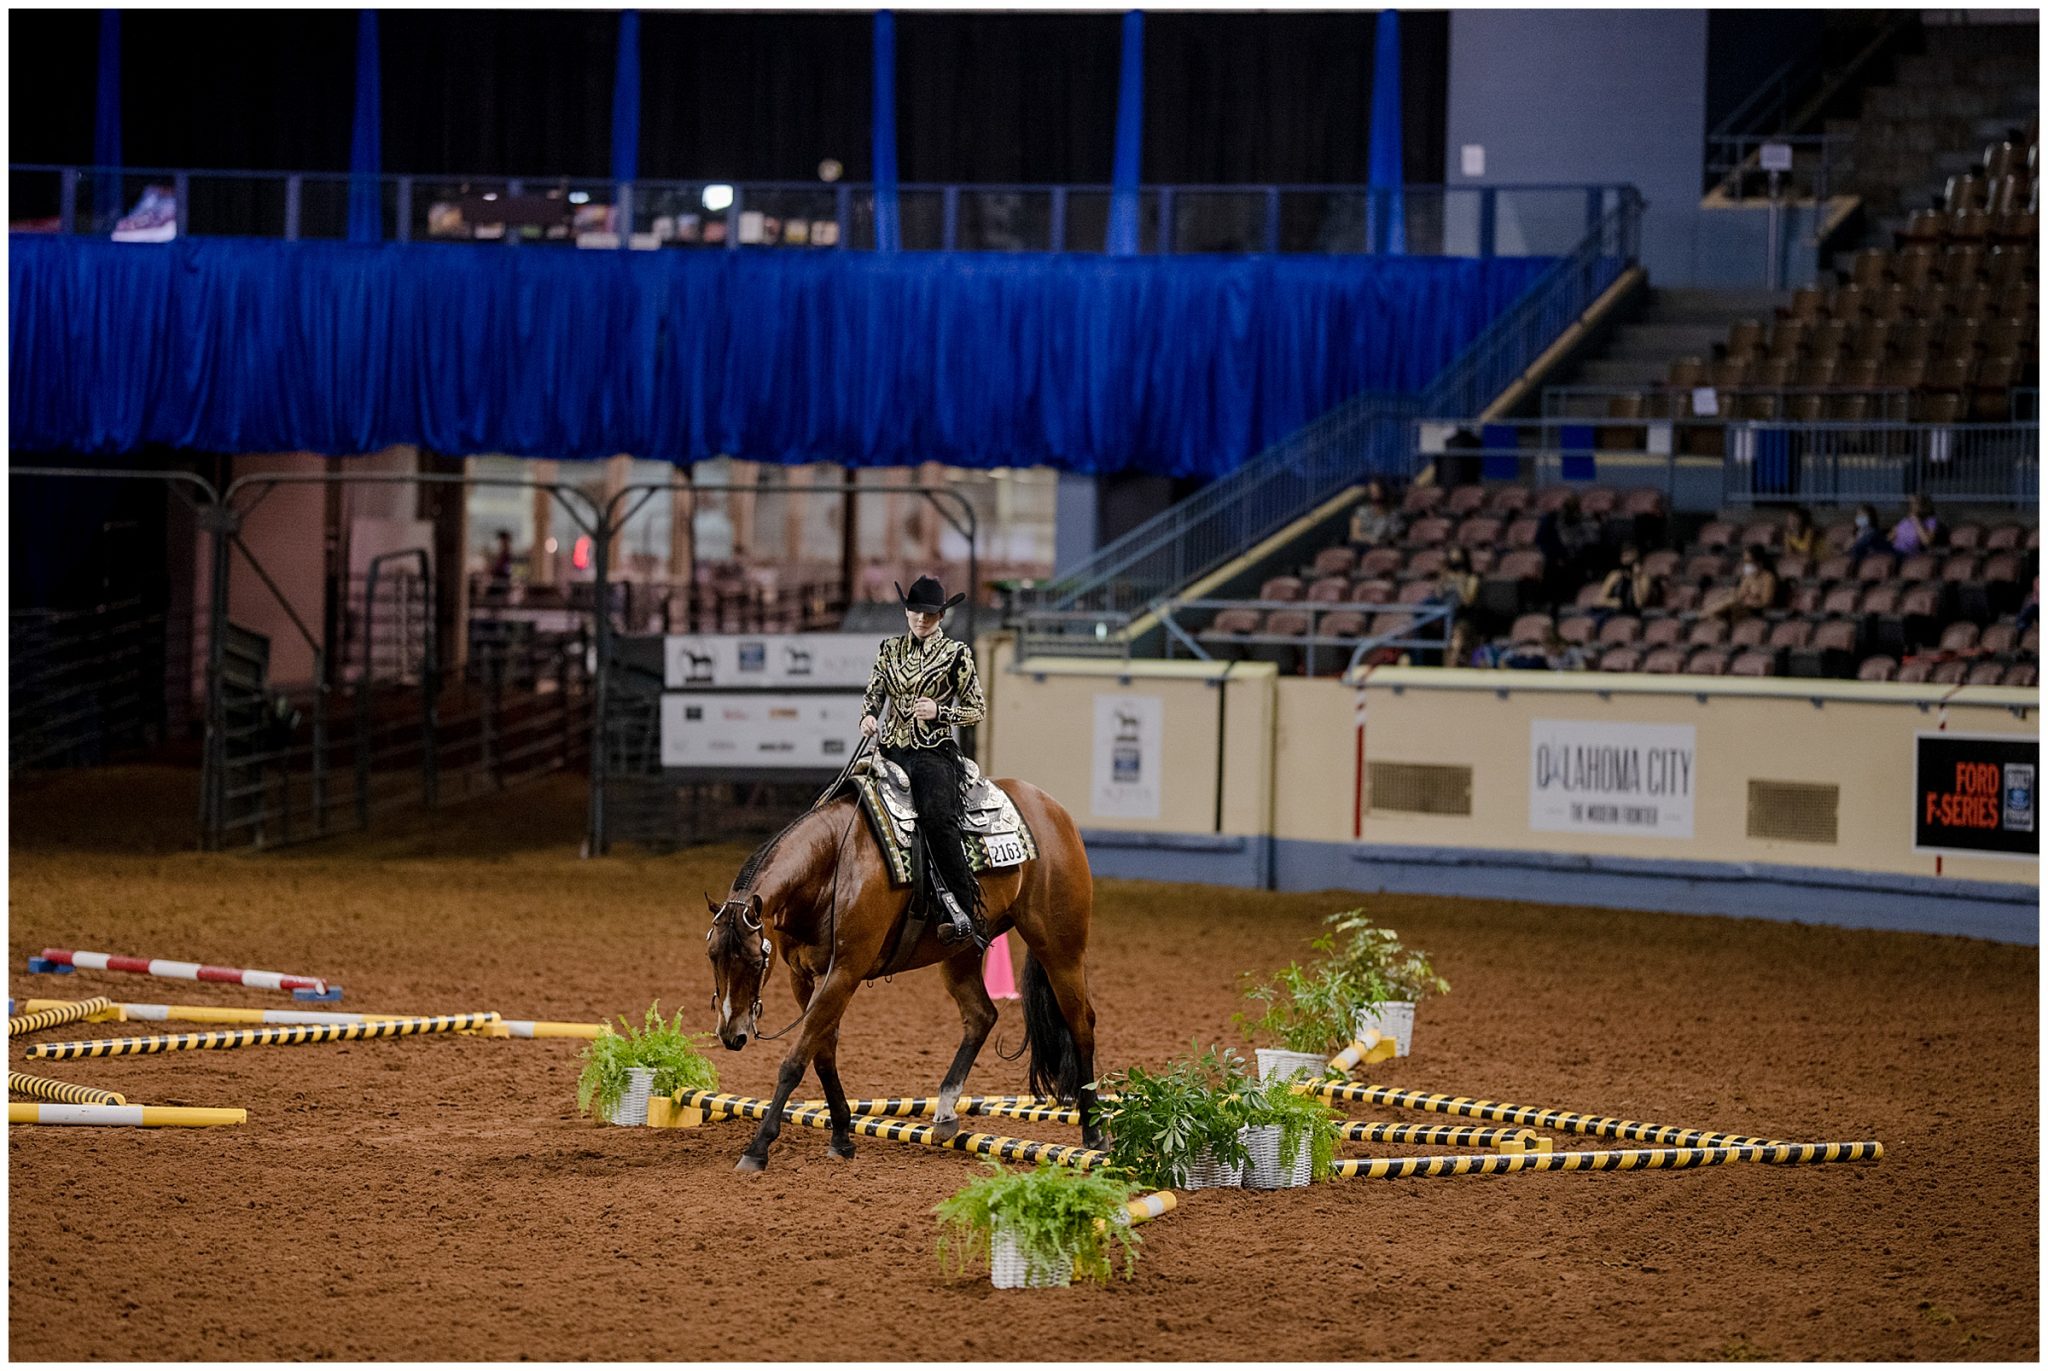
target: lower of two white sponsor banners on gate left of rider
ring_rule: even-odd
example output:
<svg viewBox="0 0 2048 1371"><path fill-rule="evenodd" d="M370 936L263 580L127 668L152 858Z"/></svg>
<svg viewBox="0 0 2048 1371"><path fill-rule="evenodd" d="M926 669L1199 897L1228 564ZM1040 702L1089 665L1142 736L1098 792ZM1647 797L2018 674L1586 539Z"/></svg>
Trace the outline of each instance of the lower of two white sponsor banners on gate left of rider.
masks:
<svg viewBox="0 0 2048 1371"><path fill-rule="evenodd" d="M860 742L860 695L662 695L662 764L838 771Z"/></svg>

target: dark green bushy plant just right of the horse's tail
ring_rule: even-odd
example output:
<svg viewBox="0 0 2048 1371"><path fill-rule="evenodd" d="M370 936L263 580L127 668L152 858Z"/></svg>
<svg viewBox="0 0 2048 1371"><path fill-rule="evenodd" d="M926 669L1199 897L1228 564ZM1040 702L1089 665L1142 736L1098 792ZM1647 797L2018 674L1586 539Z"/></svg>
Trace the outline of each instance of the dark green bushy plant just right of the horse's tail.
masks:
<svg viewBox="0 0 2048 1371"><path fill-rule="evenodd" d="M1245 1123L1245 1060L1229 1047L1200 1049L1159 1072L1133 1066L1098 1082L1110 1166L1139 1182L1180 1187L1204 1154L1223 1166L1247 1160L1237 1129Z"/></svg>

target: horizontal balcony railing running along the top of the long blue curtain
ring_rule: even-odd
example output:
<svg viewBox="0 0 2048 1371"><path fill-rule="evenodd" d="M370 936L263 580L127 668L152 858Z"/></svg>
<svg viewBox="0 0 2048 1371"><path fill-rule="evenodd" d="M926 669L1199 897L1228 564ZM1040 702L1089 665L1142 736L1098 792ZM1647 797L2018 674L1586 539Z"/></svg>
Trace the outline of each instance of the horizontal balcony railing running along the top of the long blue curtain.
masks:
<svg viewBox="0 0 2048 1371"><path fill-rule="evenodd" d="M340 240L348 172L8 168L16 230L109 234L152 186L172 236ZM874 186L815 180L604 180L578 176L377 176L381 236L586 248L872 248ZM1585 195L1622 186L1520 184L1149 184L1143 252L1384 252L1556 256L1579 238ZM100 203L94 201L100 197ZM907 250L1100 252L1106 184L932 184L897 189ZM162 227L158 232L162 232Z"/></svg>

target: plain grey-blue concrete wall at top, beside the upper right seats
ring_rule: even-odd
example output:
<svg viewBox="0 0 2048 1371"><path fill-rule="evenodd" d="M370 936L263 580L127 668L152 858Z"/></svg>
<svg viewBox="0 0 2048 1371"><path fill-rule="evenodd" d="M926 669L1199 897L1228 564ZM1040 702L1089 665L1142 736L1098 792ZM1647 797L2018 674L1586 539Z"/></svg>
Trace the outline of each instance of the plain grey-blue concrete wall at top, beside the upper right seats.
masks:
<svg viewBox="0 0 2048 1371"><path fill-rule="evenodd" d="M1706 10L1452 10L1448 98L1452 184L1634 182L1651 281L1696 281ZM1466 143L1487 150L1483 176L1460 170ZM1503 252L1552 244L1585 217L1565 197L1513 199Z"/></svg>

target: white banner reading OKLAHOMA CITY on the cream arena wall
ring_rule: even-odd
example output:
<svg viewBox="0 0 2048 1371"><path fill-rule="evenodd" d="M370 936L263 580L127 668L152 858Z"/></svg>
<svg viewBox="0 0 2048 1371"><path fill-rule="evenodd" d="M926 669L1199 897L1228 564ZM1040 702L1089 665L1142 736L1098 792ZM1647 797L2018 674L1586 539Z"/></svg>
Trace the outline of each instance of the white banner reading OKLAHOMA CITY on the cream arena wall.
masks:
<svg viewBox="0 0 2048 1371"><path fill-rule="evenodd" d="M1692 723L1530 719L1530 828L1690 838Z"/></svg>

